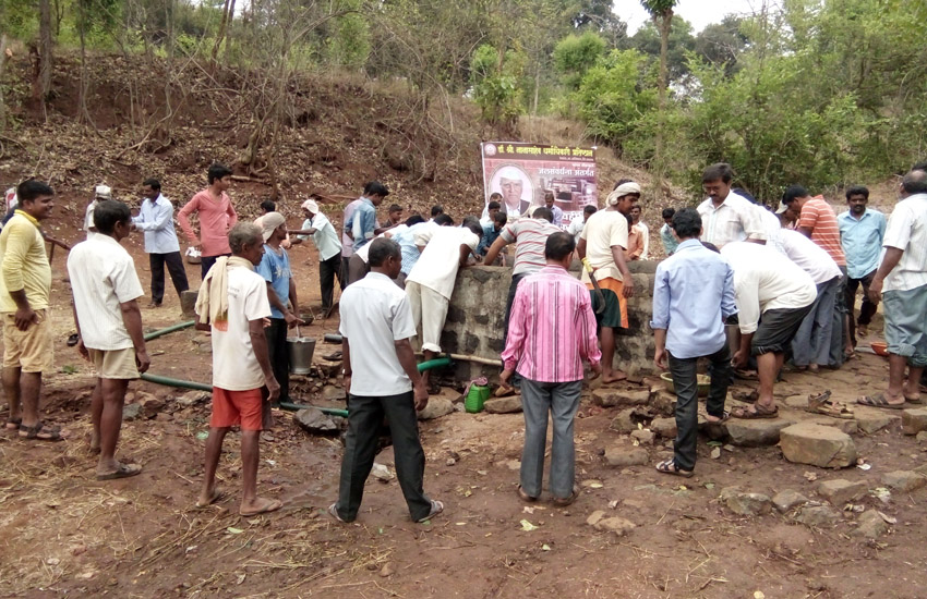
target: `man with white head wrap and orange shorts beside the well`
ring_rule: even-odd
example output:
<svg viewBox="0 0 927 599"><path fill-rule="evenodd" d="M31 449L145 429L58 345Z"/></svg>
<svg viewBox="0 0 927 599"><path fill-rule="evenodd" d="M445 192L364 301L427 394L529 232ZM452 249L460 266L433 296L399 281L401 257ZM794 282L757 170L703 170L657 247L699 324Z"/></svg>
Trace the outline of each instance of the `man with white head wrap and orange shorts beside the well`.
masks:
<svg viewBox="0 0 927 599"><path fill-rule="evenodd" d="M625 249L628 248L628 215L640 199L640 185L635 182L622 183L609 194L607 206L586 221L579 235L576 253L588 258L592 266L592 277L602 289L602 296L593 291L592 281L586 269L582 282L592 294L592 309L599 325L599 340L602 344L602 381L615 382L627 378L621 370L614 369L615 329L628 327L627 298L634 295L634 279L625 262ZM604 297L604 309L601 309Z"/></svg>

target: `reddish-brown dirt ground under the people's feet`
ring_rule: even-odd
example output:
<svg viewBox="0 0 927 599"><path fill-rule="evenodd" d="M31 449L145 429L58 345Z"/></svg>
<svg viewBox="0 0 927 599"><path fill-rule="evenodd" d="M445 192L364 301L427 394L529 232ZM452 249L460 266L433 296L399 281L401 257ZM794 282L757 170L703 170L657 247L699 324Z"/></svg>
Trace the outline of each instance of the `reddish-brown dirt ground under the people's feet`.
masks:
<svg viewBox="0 0 927 599"><path fill-rule="evenodd" d="M147 289L141 240L125 245L136 256ZM302 304L317 306L315 253L297 247L292 258ZM289 414L278 414L278 426L262 442L258 485L262 494L281 499L285 506L246 519L238 515L241 463L238 436L231 435L219 469L227 498L197 510L208 402L184 406L177 398L185 390L133 383L133 390L166 401L155 418L123 425L119 454L143 464L144 472L131 479L97 481L87 451L92 372L64 344L73 325L63 259L57 257L52 268L57 371L46 379L44 405L47 419L67 428L69 439L48 444L0 435L0 596L925 595L927 559L920 547L927 490L894 493L888 503L871 496L857 500L866 510L896 518L891 533L878 540L850 536L857 517L852 510L843 511L838 524L818 528L775 511L735 516L718 499L731 486L769 496L793 489L820 499L815 487L829 478L880 487L882 474L925 463L922 448L898 426L854 437L859 455L871 464L868 472L792 464L775 447L730 448L712 460L712 448L700 438L696 476L679 479L652 468L667 454L666 439L646 448L651 457L647 465L607 466L604 450L629 447L630 440L610 429L618 408L585 400L576 426L582 492L574 505L555 509L546 497L526 506L515 494L520 414L455 412L421 428L425 490L445 502L445 513L429 524L413 524L397 482L372 479L360 517L341 525L325 514L337 492L337 438L309 436ZM188 270L195 286L198 268ZM157 329L178 321L179 311L169 288L165 306L144 309L143 319L146 328ZM336 330L332 319L317 321L304 334L321 339ZM320 344L315 359L324 363L320 356L329 349L334 346ZM209 380L203 333L184 330L153 340L149 352L154 374ZM804 413L785 408L786 396L828 388L835 398L852 400L880 388L886 374L883 358L860 353L839 371L785 374L776 393L784 414L802 418ZM338 405L320 396L329 382L301 379L296 394ZM392 467L392 449L377 461ZM627 518L636 528L623 537L595 530L586 523L595 510Z"/></svg>

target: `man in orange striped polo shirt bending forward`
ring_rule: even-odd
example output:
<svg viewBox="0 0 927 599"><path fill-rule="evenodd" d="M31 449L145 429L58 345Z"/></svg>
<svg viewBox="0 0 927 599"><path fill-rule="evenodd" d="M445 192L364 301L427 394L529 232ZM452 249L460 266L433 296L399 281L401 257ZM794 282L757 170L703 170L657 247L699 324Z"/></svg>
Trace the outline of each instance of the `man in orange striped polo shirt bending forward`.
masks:
<svg viewBox="0 0 927 599"><path fill-rule="evenodd" d="M840 288L836 290L834 303L833 333L830 341L829 365L838 367L852 355L844 351L846 339L850 337L850 320L846 313L846 303L843 296L846 288L846 256L840 243L840 224L836 221L836 212L830 207L823 196L815 196L800 185L790 185L782 194L782 203L779 205L778 215L791 210L797 213L798 219L795 230L809 237L821 246L836 266L840 268Z"/></svg>

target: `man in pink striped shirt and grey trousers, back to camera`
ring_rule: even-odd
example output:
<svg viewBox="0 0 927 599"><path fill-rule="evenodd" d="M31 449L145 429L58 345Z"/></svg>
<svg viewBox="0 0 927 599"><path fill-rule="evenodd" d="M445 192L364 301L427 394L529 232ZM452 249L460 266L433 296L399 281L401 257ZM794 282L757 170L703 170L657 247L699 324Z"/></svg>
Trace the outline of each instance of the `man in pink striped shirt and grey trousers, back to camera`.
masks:
<svg viewBox="0 0 927 599"><path fill-rule="evenodd" d="M516 370L522 377L525 449L518 497L534 501L541 496L550 412L554 424L550 489L554 504L562 508L577 497L573 423L582 391L582 362L589 362L592 378L602 372L589 292L567 271L575 249L573 235L553 233L544 245L546 266L518 285L499 375L504 384Z"/></svg>

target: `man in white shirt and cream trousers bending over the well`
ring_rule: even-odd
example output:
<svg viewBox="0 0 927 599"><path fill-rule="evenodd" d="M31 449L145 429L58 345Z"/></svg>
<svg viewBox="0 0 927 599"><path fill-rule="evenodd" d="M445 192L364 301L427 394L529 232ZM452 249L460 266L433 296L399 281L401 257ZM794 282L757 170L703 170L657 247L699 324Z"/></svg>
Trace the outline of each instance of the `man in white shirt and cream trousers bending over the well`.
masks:
<svg viewBox="0 0 927 599"><path fill-rule="evenodd" d="M430 227L416 235L422 255L406 279L406 293L412 307L416 329L425 360L441 353L441 331L447 318L447 305L460 267L477 250L483 229L479 222L460 228ZM428 374L425 375L428 382Z"/></svg>

